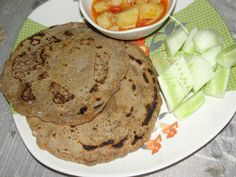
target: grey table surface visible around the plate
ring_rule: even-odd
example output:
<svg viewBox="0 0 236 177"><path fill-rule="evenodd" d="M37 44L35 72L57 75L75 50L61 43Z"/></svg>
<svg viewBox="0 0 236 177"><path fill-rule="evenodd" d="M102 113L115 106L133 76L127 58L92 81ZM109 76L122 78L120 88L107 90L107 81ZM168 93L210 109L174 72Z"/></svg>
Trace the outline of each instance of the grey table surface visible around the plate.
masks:
<svg viewBox="0 0 236 177"><path fill-rule="evenodd" d="M0 0L0 71L9 57L20 26L46 0ZM181 1L181 0L180 0ZM236 39L236 0L209 0ZM0 35L1 39L1 35ZM0 92L0 177L62 177L39 163L26 149ZM190 157L147 177L236 177L236 114L211 142Z"/></svg>

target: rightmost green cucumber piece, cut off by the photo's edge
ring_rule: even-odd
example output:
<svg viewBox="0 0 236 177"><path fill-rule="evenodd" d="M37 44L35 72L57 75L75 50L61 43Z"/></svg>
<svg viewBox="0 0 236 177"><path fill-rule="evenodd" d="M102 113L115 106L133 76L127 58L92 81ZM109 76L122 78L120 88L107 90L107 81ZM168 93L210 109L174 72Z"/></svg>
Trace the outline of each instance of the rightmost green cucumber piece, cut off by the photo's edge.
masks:
<svg viewBox="0 0 236 177"><path fill-rule="evenodd" d="M222 50L217 56L217 63L220 65L231 68L236 65L236 44Z"/></svg>

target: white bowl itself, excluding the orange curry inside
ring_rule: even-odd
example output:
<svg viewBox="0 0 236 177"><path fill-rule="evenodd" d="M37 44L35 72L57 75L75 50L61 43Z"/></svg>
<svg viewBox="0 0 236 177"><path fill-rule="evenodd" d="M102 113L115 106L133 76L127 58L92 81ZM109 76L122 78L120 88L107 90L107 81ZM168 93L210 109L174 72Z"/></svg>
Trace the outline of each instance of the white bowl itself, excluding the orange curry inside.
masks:
<svg viewBox="0 0 236 177"><path fill-rule="evenodd" d="M134 39L139 39L139 38L145 37L145 36L151 34L152 32L154 32L155 30L157 30L158 28L160 28L162 26L162 24L168 19L171 12L173 11L176 1L177 0L169 0L169 3L168 3L169 6L168 6L167 13L160 21L158 21L152 25L149 25L149 26L130 29L130 30L126 30L126 31L107 30L107 29L102 28L99 25L97 25L96 22L94 22L92 15L91 15L91 6L92 6L93 0L80 0L79 7L80 7L80 10L81 10L83 16L85 17L85 19L92 26L94 26L96 29L101 31L103 34L110 36L112 38L115 38L115 39L134 40Z"/></svg>

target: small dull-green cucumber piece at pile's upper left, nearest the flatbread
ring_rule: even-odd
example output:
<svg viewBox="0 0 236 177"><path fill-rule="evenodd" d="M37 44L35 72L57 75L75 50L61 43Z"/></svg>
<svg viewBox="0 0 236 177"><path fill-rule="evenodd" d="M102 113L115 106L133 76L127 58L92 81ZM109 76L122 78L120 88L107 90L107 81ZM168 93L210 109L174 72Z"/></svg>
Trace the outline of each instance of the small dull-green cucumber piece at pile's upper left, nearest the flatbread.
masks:
<svg viewBox="0 0 236 177"><path fill-rule="evenodd" d="M158 75L161 75L161 73L171 66L170 62L166 58L162 58L160 56L154 56L152 62L157 70Z"/></svg>

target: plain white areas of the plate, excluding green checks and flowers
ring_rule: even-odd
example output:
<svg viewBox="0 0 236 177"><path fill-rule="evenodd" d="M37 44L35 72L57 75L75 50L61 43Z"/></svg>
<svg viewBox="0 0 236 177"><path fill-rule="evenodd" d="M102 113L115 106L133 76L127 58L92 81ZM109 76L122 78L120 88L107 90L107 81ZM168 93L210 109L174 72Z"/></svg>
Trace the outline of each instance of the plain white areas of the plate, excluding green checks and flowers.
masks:
<svg viewBox="0 0 236 177"><path fill-rule="evenodd" d="M193 0L178 1L176 11L186 7ZM29 18L45 26L79 21L78 2L73 0L50 0L30 14ZM39 149L35 138L20 115L14 115L14 121L29 151L41 163L48 167L76 176L133 176L167 167L198 150L214 138L231 120L236 110L236 92L227 92L224 99L207 97L207 101L190 118L179 122L177 135L162 142L157 154L139 149L124 158L93 167L72 163L56 158ZM162 112L165 111L162 106Z"/></svg>

